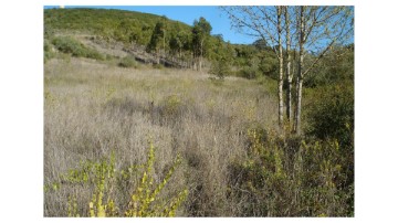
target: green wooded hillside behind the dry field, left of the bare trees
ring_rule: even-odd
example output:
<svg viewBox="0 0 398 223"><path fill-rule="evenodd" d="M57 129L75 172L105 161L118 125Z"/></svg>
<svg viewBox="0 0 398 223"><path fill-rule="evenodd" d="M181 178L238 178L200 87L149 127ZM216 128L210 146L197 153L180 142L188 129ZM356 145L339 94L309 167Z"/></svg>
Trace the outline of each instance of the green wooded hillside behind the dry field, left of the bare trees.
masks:
<svg viewBox="0 0 398 223"><path fill-rule="evenodd" d="M201 21L200 18L198 20ZM271 49L259 44L230 44L222 34L210 35L209 32L203 50L198 50L195 41L199 41L198 35L202 33L195 30L195 24L200 26L200 23L192 21L193 25L188 25L166 17L124 10L46 9L44 38L46 42L52 42L56 33L85 33L106 41L122 42L127 47L132 44L140 45L147 52L163 52L186 63L202 56L203 67L218 75L248 78L262 74L275 76L275 55Z"/></svg>

